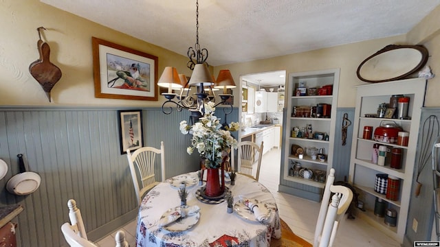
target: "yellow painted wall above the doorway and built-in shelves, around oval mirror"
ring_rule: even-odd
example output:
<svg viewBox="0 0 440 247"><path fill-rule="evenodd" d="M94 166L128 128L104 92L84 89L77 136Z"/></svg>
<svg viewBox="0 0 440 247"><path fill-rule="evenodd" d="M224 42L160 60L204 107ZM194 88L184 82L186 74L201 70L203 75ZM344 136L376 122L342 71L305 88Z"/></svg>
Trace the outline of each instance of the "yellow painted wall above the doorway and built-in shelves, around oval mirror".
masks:
<svg viewBox="0 0 440 247"><path fill-rule="evenodd" d="M355 89L353 86L365 83L356 75L359 64L386 45L424 45L430 54L427 64L430 65L433 73L440 73L440 60L438 59L440 56L439 16L440 6L426 16L407 35L367 40L360 43L290 54L277 58L226 64L215 67L214 73L218 73L220 69L230 69L232 76L239 78L240 75L283 69L289 74L301 71L340 68L338 107L354 107ZM440 98L437 93L440 91L439 76L428 81L425 106L440 106Z"/></svg>

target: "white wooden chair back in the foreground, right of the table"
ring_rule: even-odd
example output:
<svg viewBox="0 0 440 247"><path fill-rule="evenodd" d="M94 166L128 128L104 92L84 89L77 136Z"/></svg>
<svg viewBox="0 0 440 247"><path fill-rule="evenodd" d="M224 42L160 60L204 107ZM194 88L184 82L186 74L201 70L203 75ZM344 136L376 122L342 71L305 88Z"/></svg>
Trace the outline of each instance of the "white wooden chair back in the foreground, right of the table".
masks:
<svg viewBox="0 0 440 247"><path fill-rule="evenodd" d="M333 245L333 241L338 231L340 220L345 215L353 200L351 189L342 185L333 185L335 180L335 169L330 169L327 182L322 196L321 207L316 222L314 247L328 247ZM331 198L331 193L335 193Z"/></svg>

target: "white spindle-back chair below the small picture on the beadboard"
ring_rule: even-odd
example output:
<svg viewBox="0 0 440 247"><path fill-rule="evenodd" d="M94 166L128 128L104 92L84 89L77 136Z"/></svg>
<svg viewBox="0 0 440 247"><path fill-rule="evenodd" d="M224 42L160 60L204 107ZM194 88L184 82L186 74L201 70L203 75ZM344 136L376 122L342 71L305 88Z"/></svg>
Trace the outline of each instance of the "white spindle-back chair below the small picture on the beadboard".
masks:
<svg viewBox="0 0 440 247"><path fill-rule="evenodd" d="M155 187L159 182L155 180L154 164L156 154L160 154L162 181L165 180L165 150L164 142L160 142L160 149L152 147L138 148L131 154L130 150L126 150L126 158L129 160L131 178L135 187L137 204L140 206L142 196L146 191ZM137 174L137 172L139 174ZM140 176L142 187L137 182L137 176Z"/></svg>

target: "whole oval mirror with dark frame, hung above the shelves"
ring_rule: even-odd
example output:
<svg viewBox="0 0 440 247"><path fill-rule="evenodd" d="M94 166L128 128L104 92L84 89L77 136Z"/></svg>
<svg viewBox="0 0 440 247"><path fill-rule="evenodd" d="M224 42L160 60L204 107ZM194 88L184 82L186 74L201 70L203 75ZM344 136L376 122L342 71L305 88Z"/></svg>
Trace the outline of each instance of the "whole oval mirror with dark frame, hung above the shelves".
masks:
<svg viewBox="0 0 440 247"><path fill-rule="evenodd" d="M388 82L414 73L428 61L428 50L421 45L387 45L366 58L358 67L364 82Z"/></svg>

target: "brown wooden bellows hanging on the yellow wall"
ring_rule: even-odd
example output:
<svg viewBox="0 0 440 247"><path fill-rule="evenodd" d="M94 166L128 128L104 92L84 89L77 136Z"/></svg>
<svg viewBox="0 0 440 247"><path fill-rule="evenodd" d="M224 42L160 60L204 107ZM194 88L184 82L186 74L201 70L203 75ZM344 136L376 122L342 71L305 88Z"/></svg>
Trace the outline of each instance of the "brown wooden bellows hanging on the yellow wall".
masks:
<svg viewBox="0 0 440 247"><path fill-rule="evenodd" d="M43 88L49 102L51 102L50 91L55 86L56 82L61 78L61 69L56 67L55 64L50 62L50 47L47 43L41 40L41 30L45 30L44 27L36 29L39 32L39 40L36 43L39 50L40 58L32 62L29 66L30 74Z"/></svg>

